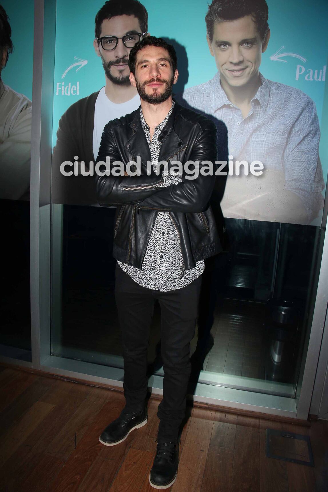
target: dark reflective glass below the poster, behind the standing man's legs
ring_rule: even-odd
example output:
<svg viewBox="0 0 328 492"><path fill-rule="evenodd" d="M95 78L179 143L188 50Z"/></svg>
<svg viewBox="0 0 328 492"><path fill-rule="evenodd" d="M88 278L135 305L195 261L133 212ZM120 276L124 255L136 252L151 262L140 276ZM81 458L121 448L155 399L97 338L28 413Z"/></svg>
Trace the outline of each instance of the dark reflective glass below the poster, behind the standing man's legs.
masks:
<svg viewBox="0 0 328 492"><path fill-rule="evenodd" d="M54 355L122 368L114 215L64 206L62 318L52 340ZM226 222L229 248L207 260L203 274L191 387L199 379L294 397L320 228ZM155 306L149 373L163 374L159 332Z"/></svg>

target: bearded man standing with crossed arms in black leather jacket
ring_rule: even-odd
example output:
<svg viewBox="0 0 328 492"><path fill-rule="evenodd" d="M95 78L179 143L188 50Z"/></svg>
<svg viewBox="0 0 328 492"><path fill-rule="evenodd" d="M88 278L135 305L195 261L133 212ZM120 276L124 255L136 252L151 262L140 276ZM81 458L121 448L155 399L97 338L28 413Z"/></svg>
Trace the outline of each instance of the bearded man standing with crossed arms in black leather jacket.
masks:
<svg viewBox="0 0 328 492"><path fill-rule="evenodd" d="M195 334L204 260L221 251L209 206L215 176L200 172L196 179L186 179L185 170L178 175L171 166L177 160L198 161L202 171L203 161L214 163L217 134L214 123L172 99L172 86L178 80L173 46L147 37L131 50L129 67L141 108L105 126L97 158L126 164L140 156L141 161L139 175L113 176L111 170L109 176L96 176L99 203L118 205L113 254L118 261L115 296L126 400L119 418L99 440L113 446L147 424L147 346L151 309L158 299L164 380L149 482L156 489L166 489L178 472L179 426L185 412L190 341ZM223 124L220 133L223 142L227 138ZM160 161L168 162L168 168L155 174Z"/></svg>

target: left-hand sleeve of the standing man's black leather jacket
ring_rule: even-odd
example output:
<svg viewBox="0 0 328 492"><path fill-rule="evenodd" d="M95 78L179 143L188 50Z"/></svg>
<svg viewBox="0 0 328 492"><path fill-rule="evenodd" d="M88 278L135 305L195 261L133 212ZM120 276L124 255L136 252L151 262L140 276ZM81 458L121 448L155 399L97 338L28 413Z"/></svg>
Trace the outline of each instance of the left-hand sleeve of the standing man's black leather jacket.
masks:
<svg viewBox="0 0 328 492"><path fill-rule="evenodd" d="M121 162L121 155L118 151L118 144L113 132L113 122L107 123L104 128L99 154L96 163L106 162L106 157L110 158L110 174L99 176L96 174L96 193L100 205L119 205L134 204L144 200L157 192L157 185L163 183L162 176L151 173L136 176L116 176L114 172L119 172L123 167L126 170L127 162ZM122 164L122 166L121 166ZM115 171L117 169L118 171ZM100 166L100 171L105 170L105 165ZM138 169L137 169L138 170Z"/></svg>

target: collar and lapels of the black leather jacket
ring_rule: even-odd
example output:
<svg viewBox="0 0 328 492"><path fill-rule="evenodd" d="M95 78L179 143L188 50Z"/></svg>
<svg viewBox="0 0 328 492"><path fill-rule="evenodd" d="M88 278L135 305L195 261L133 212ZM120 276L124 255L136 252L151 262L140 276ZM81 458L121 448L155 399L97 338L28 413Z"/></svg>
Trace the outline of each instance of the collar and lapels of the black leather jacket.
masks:
<svg viewBox="0 0 328 492"><path fill-rule="evenodd" d="M185 143L181 140L179 135L175 132L176 117L181 110L181 106L175 100L175 105L172 113L158 135L158 140L162 142L161 149L158 156L158 162L161 160L169 160L174 155L178 154L185 146ZM133 113L132 113L133 114ZM133 157L140 155L141 163L147 167L147 161L151 161L150 149L147 142L145 132L143 130L140 121L140 106L134 111L134 116L129 123L130 128L133 130L131 138L124 144L124 147ZM127 147L128 146L128 147Z"/></svg>

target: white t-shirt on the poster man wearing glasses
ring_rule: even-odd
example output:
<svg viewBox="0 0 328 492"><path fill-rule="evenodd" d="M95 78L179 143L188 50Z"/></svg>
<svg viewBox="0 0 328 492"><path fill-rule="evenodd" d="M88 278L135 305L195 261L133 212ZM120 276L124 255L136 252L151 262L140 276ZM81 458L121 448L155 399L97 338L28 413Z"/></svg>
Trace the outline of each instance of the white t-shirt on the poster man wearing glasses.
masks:
<svg viewBox="0 0 328 492"><path fill-rule="evenodd" d="M92 150L94 160L98 156L98 151L101 142L101 136L104 131L104 126L115 118L128 115L135 111L140 106L140 96L136 94L132 99L126 102L117 104L108 99L105 94L105 87L100 89L94 108L94 128L92 138Z"/></svg>

